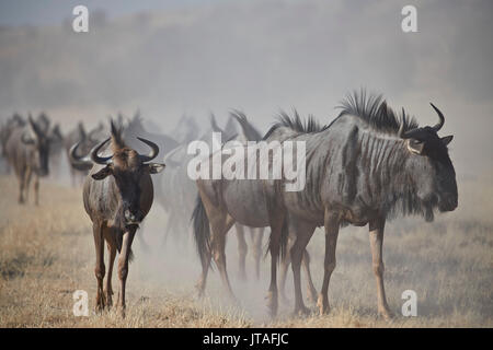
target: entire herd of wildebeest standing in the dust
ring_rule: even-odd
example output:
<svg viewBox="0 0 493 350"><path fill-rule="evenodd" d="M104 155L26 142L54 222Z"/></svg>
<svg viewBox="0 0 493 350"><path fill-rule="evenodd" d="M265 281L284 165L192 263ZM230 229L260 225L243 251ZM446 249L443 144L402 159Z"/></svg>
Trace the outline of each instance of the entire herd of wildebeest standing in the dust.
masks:
<svg viewBox="0 0 493 350"><path fill-rule="evenodd" d="M183 117L167 136L156 128L148 131L139 115L126 120L119 116L107 127L100 124L87 131L82 122L62 135L49 118L20 115L8 119L0 129L2 156L19 179L19 202L27 200L34 178L35 203L39 202L39 177L49 173L61 154L69 160L72 183L82 174L83 205L93 225L95 246L96 308L112 305L112 271L118 258L121 289L117 306L125 315L125 285L131 244L137 229L151 209L153 198L167 211L162 223L163 244L174 240L185 244L193 232L202 264L198 294L205 293L210 265L217 266L228 295L236 300L226 267L226 235L234 225L239 242L240 275L244 277L245 231L254 242L255 271L259 276L264 230L270 229L271 283L267 305L275 316L278 308L277 267L280 261L280 293L289 264L295 284L295 313L308 313L300 285L300 267L308 277L310 298L317 300L321 314L329 312L329 283L335 268L335 247L341 228L369 226L372 270L378 291L378 313L391 317L383 288L382 243L387 220L417 214L432 221L436 212L452 211L458 205L456 174L447 145L452 137L438 137L444 126L443 113L434 126L420 127L404 109L390 108L381 96L364 91L348 95L341 113L326 126L310 116L282 113L272 128L262 133L241 112L232 112L221 129L214 116L208 129L199 133L193 118ZM285 190L289 180L284 173L276 178L198 178L188 176L188 144L194 140L213 142L236 140L237 148L252 142L305 144L305 186ZM238 145L240 144L240 145ZM226 148L226 145L223 145ZM214 148L213 148L214 149ZM65 152L64 152L65 150ZM214 151L200 160L206 163L219 152L221 164L231 152ZM256 151L255 151L256 152ZM161 154L163 163L153 160ZM274 150L273 150L274 153ZM228 155L229 154L229 155ZM273 168L273 159L255 158L245 168ZM10 172L10 170L8 170ZM162 174L158 174L161 171ZM317 295L310 275L307 245L319 226L325 230L325 258L322 289ZM139 235L137 235L139 237ZM145 246L145 241L141 241ZM104 243L108 269L104 264Z"/></svg>

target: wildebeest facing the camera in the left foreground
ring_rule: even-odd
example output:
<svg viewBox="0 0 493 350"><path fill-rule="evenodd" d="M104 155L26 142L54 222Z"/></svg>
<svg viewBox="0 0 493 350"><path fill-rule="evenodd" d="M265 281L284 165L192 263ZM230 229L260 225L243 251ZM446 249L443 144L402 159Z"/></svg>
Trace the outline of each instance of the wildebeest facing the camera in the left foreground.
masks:
<svg viewBox="0 0 493 350"><path fill-rule="evenodd" d="M150 174L161 172L164 164L149 163L158 155L159 147L146 139L138 138L151 148L149 155L140 155L128 148L122 137L122 129L111 124L111 139L98 144L91 151L94 164L83 185L83 201L91 218L96 252L95 277L98 279L96 308L112 305L112 271L116 250L118 258L118 278L121 291L117 306L125 316L125 283L128 275L128 260L131 256L131 242L138 225L149 212L153 200L153 187ZM99 155L99 151L111 140L112 154ZM70 150L73 163L88 162L76 155L77 144ZM104 241L110 254L110 268L106 288L103 291Z"/></svg>

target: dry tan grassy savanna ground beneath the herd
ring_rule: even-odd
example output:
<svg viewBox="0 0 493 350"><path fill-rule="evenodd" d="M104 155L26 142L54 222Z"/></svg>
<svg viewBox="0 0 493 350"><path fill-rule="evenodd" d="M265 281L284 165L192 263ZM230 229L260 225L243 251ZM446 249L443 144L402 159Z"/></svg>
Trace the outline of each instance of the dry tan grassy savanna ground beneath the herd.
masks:
<svg viewBox="0 0 493 350"><path fill-rule="evenodd" d="M167 217L154 205L141 231L149 244L136 238L135 261L127 282L127 317L115 311L92 312L95 298L94 248L81 190L45 180L41 206L30 198L16 203L13 176L0 177L0 327L492 327L493 326L493 173L475 180L459 180L459 208L437 215L398 219L386 228L383 259L386 290L395 317L377 317L375 278L367 229L346 228L337 243L337 267L329 299L331 313L319 316L313 304L307 317L291 316L293 280L288 303L279 316L267 317L264 296L270 258L261 279L253 277L248 257L248 281L237 278L234 234L228 242L228 270L241 305L223 298L217 271L209 273L207 296L196 300L199 273L193 241L181 233L162 242ZM323 275L322 231L309 244L316 287ZM265 240L266 242L266 240ZM107 267L107 264L106 264ZM118 290L116 272L113 288ZM72 313L72 293L85 290L89 317ZM401 294L417 294L417 317L403 317ZM305 285L303 285L305 292Z"/></svg>

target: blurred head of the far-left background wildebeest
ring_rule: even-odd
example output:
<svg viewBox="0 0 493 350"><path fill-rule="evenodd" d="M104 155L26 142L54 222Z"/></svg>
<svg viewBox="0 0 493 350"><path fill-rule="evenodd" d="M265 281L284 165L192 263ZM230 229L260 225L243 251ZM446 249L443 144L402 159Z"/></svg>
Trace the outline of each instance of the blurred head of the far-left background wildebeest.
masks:
<svg viewBox="0 0 493 350"><path fill-rule="evenodd" d="M32 147L32 155L34 167L33 170L39 176L46 176L49 173L48 155L51 138L45 133L44 130L28 117L28 130L22 135L22 142Z"/></svg>

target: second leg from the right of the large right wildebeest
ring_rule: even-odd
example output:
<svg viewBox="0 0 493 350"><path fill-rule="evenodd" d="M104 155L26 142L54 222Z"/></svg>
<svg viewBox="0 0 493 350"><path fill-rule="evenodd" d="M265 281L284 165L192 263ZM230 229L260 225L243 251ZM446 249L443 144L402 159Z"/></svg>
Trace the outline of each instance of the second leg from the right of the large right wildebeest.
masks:
<svg viewBox="0 0 493 350"><path fill-rule="evenodd" d="M335 246L339 236L339 220L337 218L325 212L325 258L323 261L323 283L319 295L317 305L320 314L326 314L330 311L329 306L329 282L331 280L332 271L335 269Z"/></svg>

